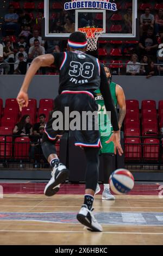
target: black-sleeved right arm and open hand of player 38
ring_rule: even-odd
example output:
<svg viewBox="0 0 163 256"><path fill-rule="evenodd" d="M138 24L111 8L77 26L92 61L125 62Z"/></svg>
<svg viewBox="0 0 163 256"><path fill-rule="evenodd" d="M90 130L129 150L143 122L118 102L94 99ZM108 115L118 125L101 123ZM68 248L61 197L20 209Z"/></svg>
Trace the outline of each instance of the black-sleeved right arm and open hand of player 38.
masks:
<svg viewBox="0 0 163 256"><path fill-rule="evenodd" d="M105 70L102 65L101 65L100 90L104 99L106 111L111 112L111 124L114 130L109 141L107 141L106 143L113 142L114 153L116 154L116 151L118 150L118 154L121 156L123 154L123 150L120 143L120 129L118 127L117 112L115 109L114 101L112 100L112 97L111 97L109 82L106 78Z"/></svg>

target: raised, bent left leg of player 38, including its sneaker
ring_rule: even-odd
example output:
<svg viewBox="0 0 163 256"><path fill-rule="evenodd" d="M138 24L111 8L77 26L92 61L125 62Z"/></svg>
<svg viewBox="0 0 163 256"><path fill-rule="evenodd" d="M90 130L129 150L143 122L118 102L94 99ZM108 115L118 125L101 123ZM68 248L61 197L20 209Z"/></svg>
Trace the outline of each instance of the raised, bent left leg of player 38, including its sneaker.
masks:
<svg viewBox="0 0 163 256"><path fill-rule="evenodd" d="M57 150L55 149L55 141L51 141L46 133L42 138L42 151L49 164L52 167L52 178L45 187L44 194L48 197L53 196L59 191L60 184L68 178L69 170L60 163Z"/></svg>

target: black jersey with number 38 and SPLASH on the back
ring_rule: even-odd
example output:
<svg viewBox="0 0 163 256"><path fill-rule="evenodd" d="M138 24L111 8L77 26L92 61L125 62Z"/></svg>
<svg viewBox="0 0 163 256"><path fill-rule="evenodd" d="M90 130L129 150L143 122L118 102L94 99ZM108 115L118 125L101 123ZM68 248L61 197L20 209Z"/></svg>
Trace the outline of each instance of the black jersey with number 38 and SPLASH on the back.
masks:
<svg viewBox="0 0 163 256"><path fill-rule="evenodd" d="M53 53L60 70L59 93L63 90L94 92L100 86L99 60L81 51Z"/></svg>

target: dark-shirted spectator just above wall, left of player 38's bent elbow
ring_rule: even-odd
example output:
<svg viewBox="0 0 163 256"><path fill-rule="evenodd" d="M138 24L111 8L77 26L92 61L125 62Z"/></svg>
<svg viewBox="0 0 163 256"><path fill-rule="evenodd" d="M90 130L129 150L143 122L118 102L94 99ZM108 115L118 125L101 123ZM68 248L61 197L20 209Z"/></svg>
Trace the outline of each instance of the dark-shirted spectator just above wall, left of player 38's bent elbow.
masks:
<svg viewBox="0 0 163 256"><path fill-rule="evenodd" d="M17 64L14 65L14 75L26 75L28 64L27 61L24 60L23 53L18 53L18 60L16 63Z"/></svg>

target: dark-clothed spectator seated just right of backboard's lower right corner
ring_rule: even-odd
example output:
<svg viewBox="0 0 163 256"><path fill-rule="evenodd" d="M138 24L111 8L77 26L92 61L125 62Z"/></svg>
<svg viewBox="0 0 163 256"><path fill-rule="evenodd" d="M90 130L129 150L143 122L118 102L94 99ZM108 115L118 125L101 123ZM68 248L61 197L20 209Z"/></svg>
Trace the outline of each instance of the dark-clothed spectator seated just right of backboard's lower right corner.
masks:
<svg viewBox="0 0 163 256"><path fill-rule="evenodd" d="M139 53L140 55L147 54L148 56L156 56L156 50L158 48L158 42L153 35L153 28L149 27L147 35L143 35L139 41Z"/></svg>

